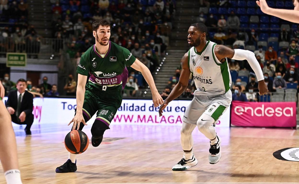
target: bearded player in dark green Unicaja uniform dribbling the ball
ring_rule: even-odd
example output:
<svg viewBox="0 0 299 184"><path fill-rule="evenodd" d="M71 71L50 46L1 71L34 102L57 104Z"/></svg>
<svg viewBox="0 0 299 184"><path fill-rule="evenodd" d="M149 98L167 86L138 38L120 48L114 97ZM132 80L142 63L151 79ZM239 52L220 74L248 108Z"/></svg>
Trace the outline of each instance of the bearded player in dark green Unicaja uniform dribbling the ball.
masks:
<svg viewBox="0 0 299 184"><path fill-rule="evenodd" d="M94 21L92 28L96 43L81 56L77 68L77 109L75 117L68 125L73 123L73 130L82 130L83 126L87 125L86 122L97 112L91 127L91 144L97 147L121 105L121 90L128 78L126 66L131 66L144 76L151 89L155 107L162 104L163 100L149 69L129 50L109 41L111 35L109 22L103 19ZM89 81L86 84L89 74ZM58 173L76 170L76 154L70 152L67 162L56 168Z"/></svg>

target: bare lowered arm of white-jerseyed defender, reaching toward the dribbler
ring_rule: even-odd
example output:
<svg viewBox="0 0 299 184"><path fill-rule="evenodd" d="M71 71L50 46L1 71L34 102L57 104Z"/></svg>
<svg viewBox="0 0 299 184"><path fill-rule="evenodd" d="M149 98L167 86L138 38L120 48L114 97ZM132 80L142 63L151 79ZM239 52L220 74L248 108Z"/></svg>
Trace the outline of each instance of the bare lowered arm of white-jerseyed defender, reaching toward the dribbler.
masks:
<svg viewBox="0 0 299 184"><path fill-rule="evenodd" d="M173 87L173 90L170 92L168 97L164 100L164 103L160 106L159 109L160 116L162 116L163 110L168 105L168 103L178 98L187 88L189 83L190 73L191 73L188 62L189 60L188 60L188 52L187 52L181 59L182 72L181 72L179 82L178 84L176 84L176 86Z"/></svg>

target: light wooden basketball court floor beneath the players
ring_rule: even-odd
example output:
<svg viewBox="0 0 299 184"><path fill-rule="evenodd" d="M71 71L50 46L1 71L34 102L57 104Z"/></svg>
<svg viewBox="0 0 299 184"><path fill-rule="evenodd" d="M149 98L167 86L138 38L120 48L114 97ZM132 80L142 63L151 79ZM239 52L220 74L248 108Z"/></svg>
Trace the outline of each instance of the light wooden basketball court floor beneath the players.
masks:
<svg viewBox="0 0 299 184"><path fill-rule="evenodd" d="M77 157L77 171L58 174L68 157L63 141L70 127L62 124L14 126L24 184L85 183L299 183L299 162L277 160L273 152L299 147L294 129L220 128L222 158L208 163L209 141L196 129L193 150L197 166L172 171L182 158L180 126L112 125L103 143ZM83 131L91 138L91 124ZM3 173L2 168L0 173ZM0 183L5 183L0 174Z"/></svg>

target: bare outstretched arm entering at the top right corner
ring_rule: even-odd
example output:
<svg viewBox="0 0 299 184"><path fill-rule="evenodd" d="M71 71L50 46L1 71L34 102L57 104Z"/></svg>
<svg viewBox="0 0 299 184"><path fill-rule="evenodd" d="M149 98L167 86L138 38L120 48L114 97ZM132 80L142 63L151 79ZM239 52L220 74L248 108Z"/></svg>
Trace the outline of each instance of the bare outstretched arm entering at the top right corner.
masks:
<svg viewBox="0 0 299 184"><path fill-rule="evenodd" d="M299 23L299 11L298 10L285 10L285 9L276 9L270 8L266 0L256 1L257 5L261 8L263 13L266 13L271 16L275 16L286 21ZM295 8L299 6L299 2L294 1Z"/></svg>

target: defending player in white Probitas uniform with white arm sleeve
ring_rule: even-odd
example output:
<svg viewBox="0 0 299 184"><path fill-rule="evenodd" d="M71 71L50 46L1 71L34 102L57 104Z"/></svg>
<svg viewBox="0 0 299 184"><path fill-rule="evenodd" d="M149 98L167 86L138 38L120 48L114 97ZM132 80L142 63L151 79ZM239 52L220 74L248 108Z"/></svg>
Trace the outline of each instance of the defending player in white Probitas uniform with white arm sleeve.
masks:
<svg viewBox="0 0 299 184"><path fill-rule="evenodd" d="M231 75L227 58L247 60L254 70L260 95L268 92L260 64L254 53L248 50L232 50L224 45L217 45L206 40L207 27L202 23L192 24L188 30L190 50L181 59L182 72L179 83L160 106L161 116L167 104L179 97L187 88L190 73L196 85L194 98L187 107L181 128L181 146L184 156L173 166L173 171L182 171L197 164L193 155L193 139L191 133L197 126L200 132L210 140L210 164L215 164L221 158L221 138L216 134L213 124L229 108L232 94L230 90Z"/></svg>

